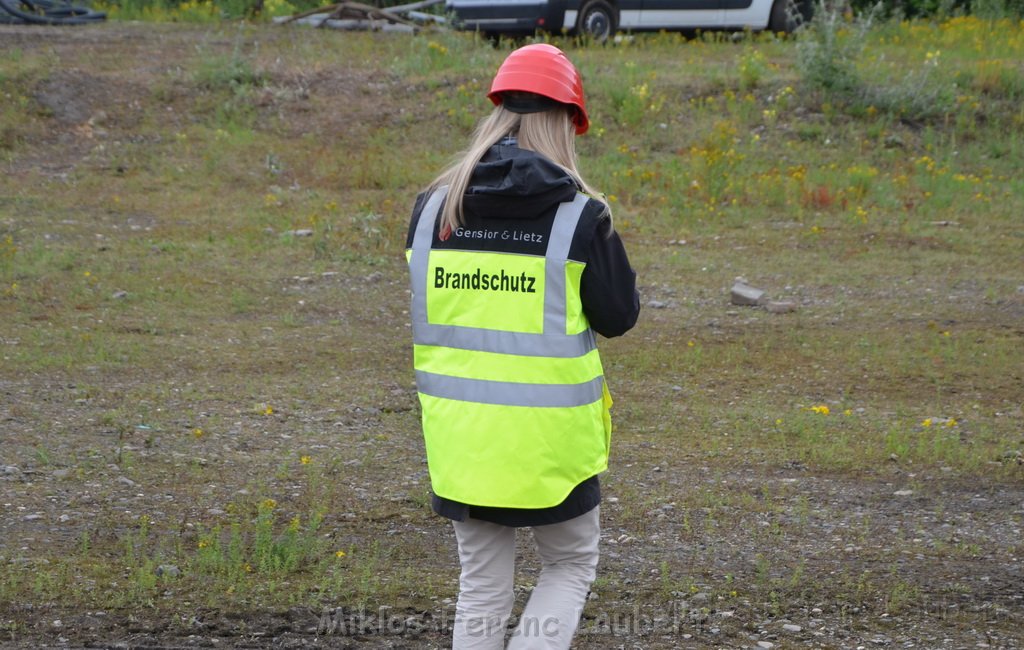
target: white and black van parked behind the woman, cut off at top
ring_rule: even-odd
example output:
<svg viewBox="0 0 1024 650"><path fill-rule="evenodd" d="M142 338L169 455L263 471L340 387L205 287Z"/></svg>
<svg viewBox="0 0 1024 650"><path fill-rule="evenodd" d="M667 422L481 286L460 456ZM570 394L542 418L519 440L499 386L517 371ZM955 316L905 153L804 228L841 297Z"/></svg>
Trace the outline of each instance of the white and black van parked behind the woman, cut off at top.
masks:
<svg viewBox="0 0 1024 650"><path fill-rule="evenodd" d="M488 36L538 31L603 41L616 31L771 30L793 32L812 0L445 0L465 30Z"/></svg>

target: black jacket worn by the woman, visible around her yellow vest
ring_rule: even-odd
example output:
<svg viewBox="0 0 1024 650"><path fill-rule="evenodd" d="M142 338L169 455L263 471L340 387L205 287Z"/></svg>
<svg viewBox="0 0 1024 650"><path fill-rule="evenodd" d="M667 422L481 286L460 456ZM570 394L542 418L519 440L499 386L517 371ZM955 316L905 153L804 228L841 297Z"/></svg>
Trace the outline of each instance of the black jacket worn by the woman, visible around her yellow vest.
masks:
<svg viewBox="0 0 1024 650"><path fill-rule="evenodd" d="M537 253L543 255L545 228L550 229L559 204L571 201L578 190L572 177L561 167L506 139L484 155L470 179L463 200L465 229L501 230L511 225L519 232L536 230L541 235ZM412 246L426 199L425 193L417 197L407 248ZM504 246L510 246L500 240L481 242L466 236L449 236L441 241L437 229L435 225L433 248L501 251ZM515 247L517 251L523 251L524 247L528 250L529 244L519 241ZM584 208L581 225L569 247L569 258L586 264L580 298L591 328L604 337L621 336L633 328L640 313L636 273L601 202L592 199ZM485 508L434 495L433 509L457 521L472 517L509 526L536 526L582 515L597 506L600 500L600 485L593 476L553 508Z"/></svg>

